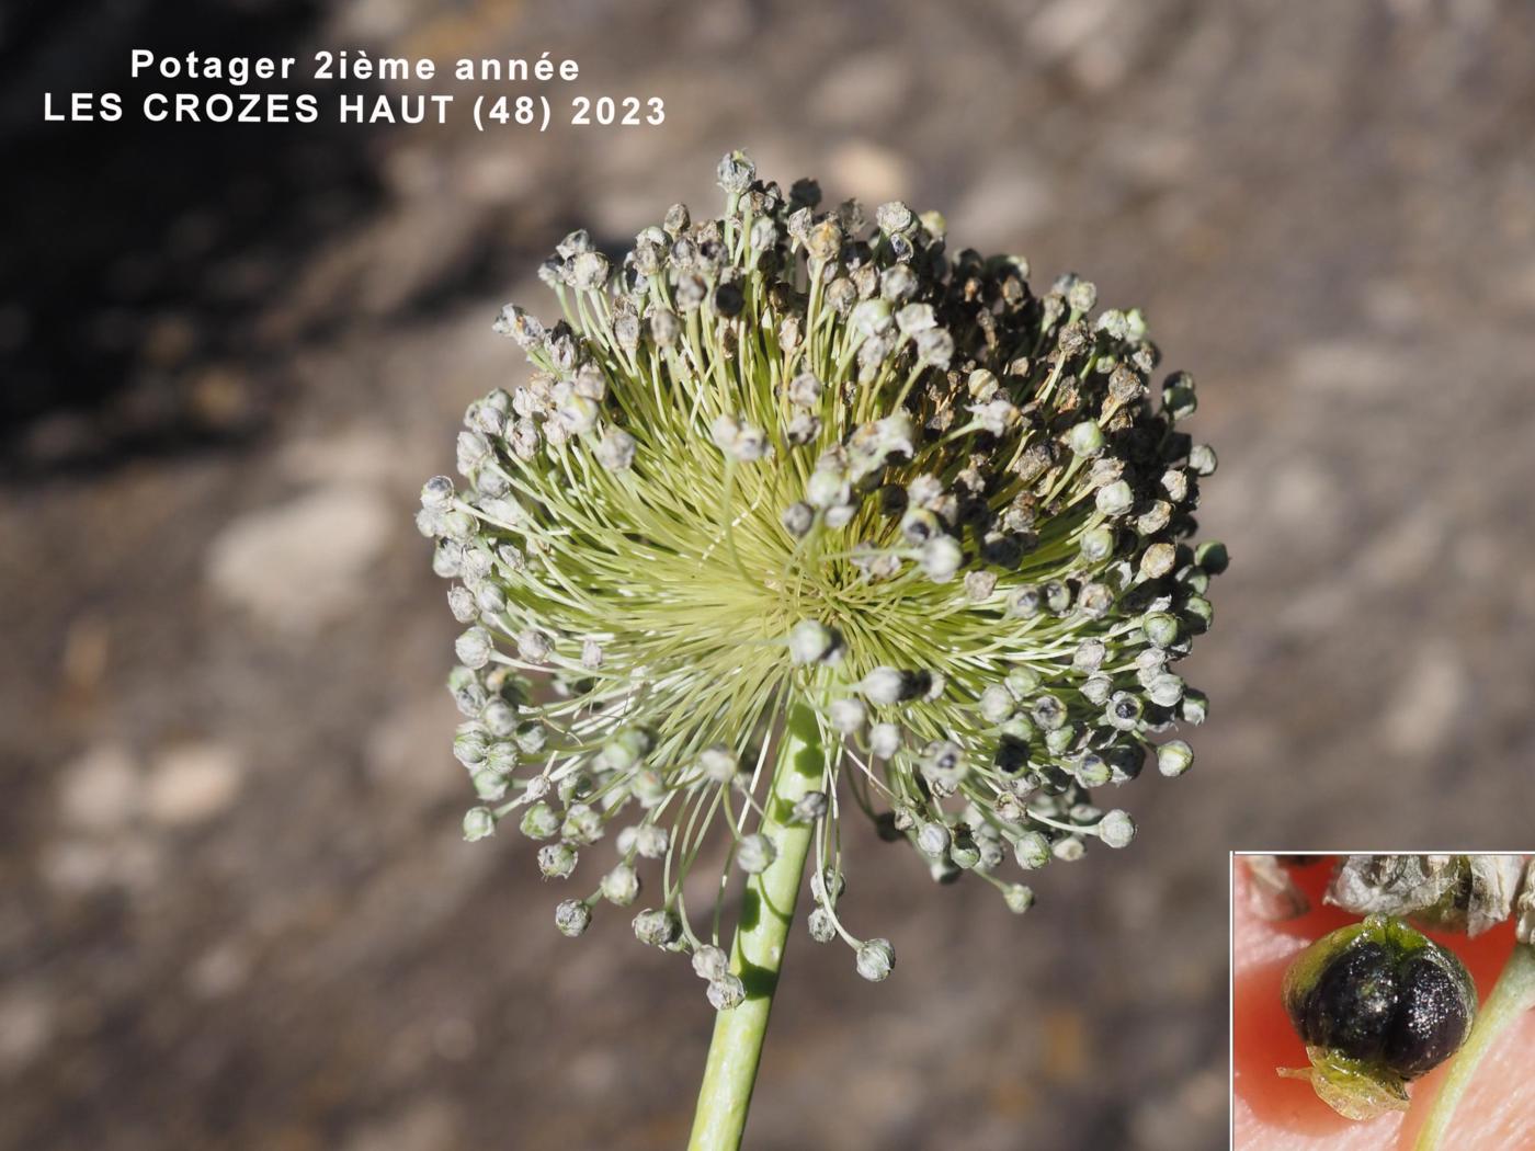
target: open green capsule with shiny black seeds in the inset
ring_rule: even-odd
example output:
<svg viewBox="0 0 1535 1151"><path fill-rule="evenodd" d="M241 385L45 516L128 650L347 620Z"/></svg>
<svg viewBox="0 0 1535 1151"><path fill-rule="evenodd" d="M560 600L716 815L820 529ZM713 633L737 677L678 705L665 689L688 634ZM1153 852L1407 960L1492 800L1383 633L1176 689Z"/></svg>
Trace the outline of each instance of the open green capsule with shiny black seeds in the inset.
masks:
<svg viewBox="0 0 1535 1151"><path fill-rule="evenodd" d="M1455 1054L1477 1017L1460 959L1383 915L1311 944L1285 971L1282 996L1311 1067L1279 1073L1309 1079L1348 1119L1406 1110L1406 1083Z"/></svg>

